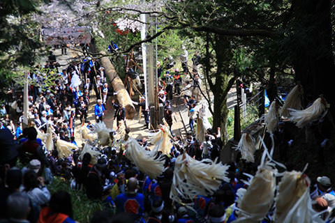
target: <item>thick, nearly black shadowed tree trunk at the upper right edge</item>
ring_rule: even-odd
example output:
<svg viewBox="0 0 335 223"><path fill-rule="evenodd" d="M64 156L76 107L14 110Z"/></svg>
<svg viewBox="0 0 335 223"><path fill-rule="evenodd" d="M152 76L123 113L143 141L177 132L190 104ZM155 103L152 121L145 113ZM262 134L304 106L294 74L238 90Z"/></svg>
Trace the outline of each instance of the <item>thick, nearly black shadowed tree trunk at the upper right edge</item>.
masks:
<svg viewBox="0 0 335 223"><path fill-rule="evenodd" d="M324 94L334 116L334 86L330 80L335 71L331 10L332 1L329 0L295 1L292 46L296 80L304 86L305 95L314 100Z"/></svg>

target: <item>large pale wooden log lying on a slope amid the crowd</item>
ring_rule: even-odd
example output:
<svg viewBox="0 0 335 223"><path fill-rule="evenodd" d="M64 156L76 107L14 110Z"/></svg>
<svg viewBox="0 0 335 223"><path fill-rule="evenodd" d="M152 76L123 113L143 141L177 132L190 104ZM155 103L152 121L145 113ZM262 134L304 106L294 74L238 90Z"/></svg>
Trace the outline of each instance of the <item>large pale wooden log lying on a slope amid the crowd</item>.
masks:
<svg viewBox="0 0 335 223"><path fill-rule="evenodd" d="M101 54L105 55L106 53L101 51ZM126 118L132 119L135 116L135 107L131 101L131 97L128 94L128 91L124 88L124 83L122 82L114 66L110 62L110 59L107 56L101 58L101 65L105 68L105 74L110 78L110 82L115 92L117 94L117 100L119 103L124 106L126 109Z"/></svg>

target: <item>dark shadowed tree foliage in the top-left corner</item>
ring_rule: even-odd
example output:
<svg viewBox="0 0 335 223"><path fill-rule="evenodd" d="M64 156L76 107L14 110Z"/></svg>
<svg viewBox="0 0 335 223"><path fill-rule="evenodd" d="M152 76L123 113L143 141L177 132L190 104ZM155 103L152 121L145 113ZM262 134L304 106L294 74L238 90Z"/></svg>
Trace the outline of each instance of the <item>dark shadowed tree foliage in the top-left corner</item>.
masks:
<svg viewBox="0 0 335 223"><path fill-rule="evenodd" d="M41 47L38 24L32 22L31 13L36 12L38 1L6 0L0 3L0 66L14 68L31 65Z"/></svg>

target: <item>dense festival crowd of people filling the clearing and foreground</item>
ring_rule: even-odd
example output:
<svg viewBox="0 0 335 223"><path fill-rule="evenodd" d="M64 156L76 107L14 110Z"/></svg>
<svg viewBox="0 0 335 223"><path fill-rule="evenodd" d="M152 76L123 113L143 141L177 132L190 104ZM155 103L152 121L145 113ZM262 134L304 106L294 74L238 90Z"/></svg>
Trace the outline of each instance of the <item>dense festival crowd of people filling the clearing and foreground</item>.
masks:
<svg viewBox="0 0 335 223"><path fill-rule="evenodd" d="M103 210L91 216L91 222L225 222L230 223L239 217L238 201L244 196L248 184L246 181L255 175L257 166L252 162L243 162L237 167L229 163L228 182L222 180L214 194L198 194L194 200L176 203L170 197L174 176L174 164L177 157L187 153L195 160L220 162L223 147L220 128L207 129L204 141L196 139L194 124L197 120L195 105L201 99L201 75L198 52L193 56L192 72L188 70L188 52L183 47L181 66L183 72L174 68L172 58L165 60L161 67L158 63L160 84L158 100L164 105L164 117L172 135L172 148L164 157L163 174L150 178L124 155L124 141L129 137L130 128L126 125L125 109L121 103L112 100L117 119L117 128L124 125L124 139L118 139L119 146L114 148L117 131L110 134L110 144L98 146L101 155L82 154L83 145L77 145L75 131L84 126L90 131L97 123L103 122L107 97L113 89L107 84L104 68L94 59L85 59L82 63L72 63L68 68L55 71L54 63L49 61L47 72L36 67L30 78L39 82L31 85L29 91L29 125L24 122L23 96L15 95L8 89L8 101L1 107L3 120L0 123L0 220L1 222L75 222L70 194L58 191L50 194L48 185L55 177L61 177L71 185L71 190L82 190L88 199L103 203ZM57 70L57 68L56 68ZM129 70L129 69L128 69ZM174 72L172 72L174 70ZM173 75L172 75L173 73ZM47 86L45 80L56 75L54 84ZM87 118L92 90L97 99L94 105L95 122ZM190 132L186 135L172 134L172 98L181 97L188 107ZM12 100L9 100L9 99ZM145 107L145 98L135 105L142 107L145 128L149 127L149 111ZM75 120L79 118L79 126ZM16 127L14 123L17 123ZM45 148L38 132L52 129L54 150ZM75 144L70 155L59 155L57 139ZM150 142L146 138L137 139L143 150L148 150ZM89 144L89 142L86 142ZM94 141L98 144L98 141ZM158 152L158 155L161 155ZM94 161L95 160L95 161ZM20 162L18 162L20 161ZM237 161L238 162L238 161ZM23 164L23 168L17 164ZM313 180L311 198L314 208L329 215L335 206L335 193L331 180L320 176ZM187 204L187 205L186 205ZM84 213L82 213L84 215ZM273 222L273 213L269 212L262 222Z"/></svg>

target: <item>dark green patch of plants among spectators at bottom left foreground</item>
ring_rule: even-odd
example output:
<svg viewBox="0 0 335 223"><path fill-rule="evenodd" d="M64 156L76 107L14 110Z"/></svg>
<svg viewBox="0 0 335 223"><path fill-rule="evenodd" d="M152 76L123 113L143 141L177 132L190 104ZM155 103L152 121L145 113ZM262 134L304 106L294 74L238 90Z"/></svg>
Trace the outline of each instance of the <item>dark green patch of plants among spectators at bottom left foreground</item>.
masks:
<svg viewBox="0 0 335 223"><path fill-rule="evenodd" d="M73 217L77 222L90 222L94 212L103 210L103 203L101 201L89 200L84 190L71 190L69 181L64 180L64 178L55 177L47 188L51 194L59 190L65 190L71 195Z"/></svg>

